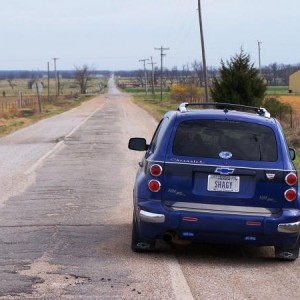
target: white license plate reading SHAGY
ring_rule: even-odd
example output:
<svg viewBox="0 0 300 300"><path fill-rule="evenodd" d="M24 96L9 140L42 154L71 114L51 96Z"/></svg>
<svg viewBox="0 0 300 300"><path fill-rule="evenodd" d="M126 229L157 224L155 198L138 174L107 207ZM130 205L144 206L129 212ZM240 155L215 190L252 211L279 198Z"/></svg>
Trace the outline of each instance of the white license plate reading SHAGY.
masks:
<svg viewBox="0 0 300 300"><path fill-rule="evenodd" d="M214 192L238 193L240 191L240 177L208 175L207 190Z"/></svg>

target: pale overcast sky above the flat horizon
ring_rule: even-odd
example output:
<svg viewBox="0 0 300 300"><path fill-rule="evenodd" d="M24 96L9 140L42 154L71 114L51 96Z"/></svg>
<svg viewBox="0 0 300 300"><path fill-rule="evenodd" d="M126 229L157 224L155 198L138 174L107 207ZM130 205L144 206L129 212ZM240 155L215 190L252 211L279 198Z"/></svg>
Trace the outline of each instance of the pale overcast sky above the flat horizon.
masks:
<svg viewBox="0 0 300 300"><path fill-rule="evenodd" d="M179 69L202 61L197 0L0 0L0 69ZM299 0L201 0L207 66L241 47L261 63L300 63ZM148 65L150 68L150 65Z"/></svg>

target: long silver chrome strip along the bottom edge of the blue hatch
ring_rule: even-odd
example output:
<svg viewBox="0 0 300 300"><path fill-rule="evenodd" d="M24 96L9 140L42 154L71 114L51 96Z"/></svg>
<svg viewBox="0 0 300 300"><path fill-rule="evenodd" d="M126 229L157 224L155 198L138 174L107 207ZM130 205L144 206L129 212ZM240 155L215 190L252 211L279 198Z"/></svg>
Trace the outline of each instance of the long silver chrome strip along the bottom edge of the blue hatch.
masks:
<svg viewBox="0 0 300 300"><path fill-rule="evenodd" d="M251 206L216 205L204 203L175 202L172 209L176 211L193 211L211 214L246 215L271 217L274 213L268 208Z"/></svg>

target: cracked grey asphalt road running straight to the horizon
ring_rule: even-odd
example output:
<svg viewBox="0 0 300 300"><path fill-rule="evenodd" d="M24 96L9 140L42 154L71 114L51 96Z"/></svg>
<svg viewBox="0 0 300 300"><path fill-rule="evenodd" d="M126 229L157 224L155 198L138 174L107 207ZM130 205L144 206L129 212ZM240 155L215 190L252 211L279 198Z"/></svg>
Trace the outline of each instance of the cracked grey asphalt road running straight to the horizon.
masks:
<svg viewBox="0 0 300 300"><path fill-rule="evenodd" d="M299 299L272 248L130 250L132 186L156 122L109 92L0 139L0 299Z"/></svg>

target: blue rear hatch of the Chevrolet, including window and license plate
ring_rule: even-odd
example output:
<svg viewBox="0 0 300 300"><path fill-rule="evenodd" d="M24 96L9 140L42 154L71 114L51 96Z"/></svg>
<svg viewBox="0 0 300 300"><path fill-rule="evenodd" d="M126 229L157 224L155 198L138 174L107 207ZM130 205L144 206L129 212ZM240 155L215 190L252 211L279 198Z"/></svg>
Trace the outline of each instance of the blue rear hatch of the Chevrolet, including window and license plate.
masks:
<svg viewBox="0 0 300 300"><path fill-rule="evenodd" d="M164 167L162 199L178 210L270 216L286 189L269 126L229 120L179 124Z"/></svg>

